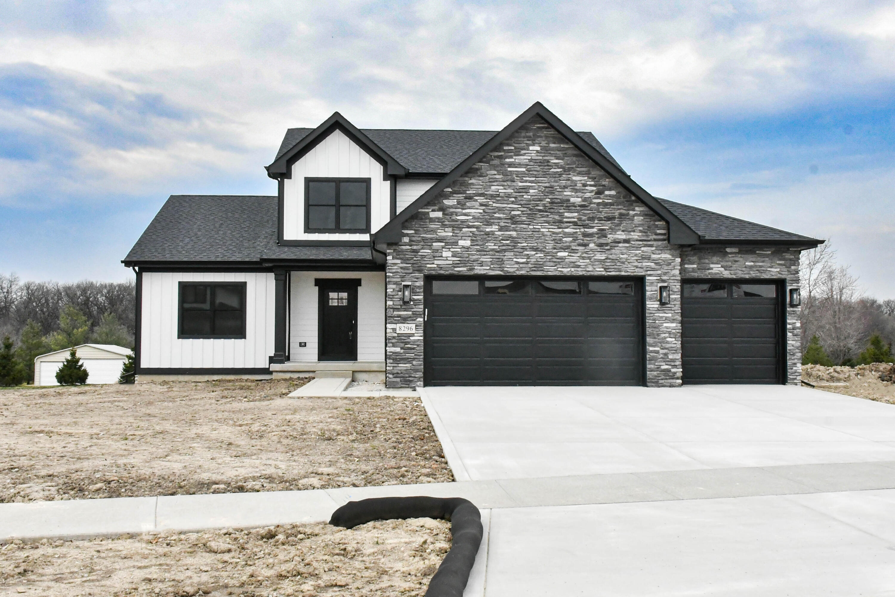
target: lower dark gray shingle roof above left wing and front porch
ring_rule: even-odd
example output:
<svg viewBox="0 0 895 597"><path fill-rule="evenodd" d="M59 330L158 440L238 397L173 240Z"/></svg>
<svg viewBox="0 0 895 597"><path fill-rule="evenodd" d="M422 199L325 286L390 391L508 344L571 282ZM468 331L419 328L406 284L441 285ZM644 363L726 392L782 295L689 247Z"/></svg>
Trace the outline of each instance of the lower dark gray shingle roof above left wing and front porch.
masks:
<svg viewBox="0 0 895 597"><path fill-rule="evenodd" d="M171 195L125 263L371 260L370 247L277 245L277 197Z"/></svg>

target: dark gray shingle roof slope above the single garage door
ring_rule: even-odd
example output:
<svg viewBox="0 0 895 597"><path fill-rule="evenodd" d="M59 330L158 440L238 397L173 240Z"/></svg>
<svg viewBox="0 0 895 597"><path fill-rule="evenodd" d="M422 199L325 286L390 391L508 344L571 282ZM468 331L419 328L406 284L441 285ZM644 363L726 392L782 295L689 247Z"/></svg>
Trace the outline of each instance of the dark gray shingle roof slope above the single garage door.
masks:
<svg viewBox="0 0 895 597"><path fill-rule="evenodd" d="M792 232L771 228L763 224L755 224L738 217L725 216L708 209L695 208L677 201L669 201L656 197L661 204L668 208L675 216L684 221L687 226L693 228L697 235L705 241L780 241L785 243L802 242L816 243L814 238L797 235Z"/></svg>

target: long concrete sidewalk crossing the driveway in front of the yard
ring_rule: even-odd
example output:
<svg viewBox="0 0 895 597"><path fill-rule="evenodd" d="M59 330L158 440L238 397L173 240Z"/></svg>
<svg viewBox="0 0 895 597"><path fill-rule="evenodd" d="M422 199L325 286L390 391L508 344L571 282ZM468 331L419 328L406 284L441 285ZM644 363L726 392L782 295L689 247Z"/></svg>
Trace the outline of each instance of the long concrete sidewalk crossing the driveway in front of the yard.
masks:
<svg viewBox="0 0 895 597"><path fill-rule="evenodd" d="M482 509L895 489L895 462L618 473L416 485L0 504L0 541L328 521L357 499L429 495Z"/></svg>

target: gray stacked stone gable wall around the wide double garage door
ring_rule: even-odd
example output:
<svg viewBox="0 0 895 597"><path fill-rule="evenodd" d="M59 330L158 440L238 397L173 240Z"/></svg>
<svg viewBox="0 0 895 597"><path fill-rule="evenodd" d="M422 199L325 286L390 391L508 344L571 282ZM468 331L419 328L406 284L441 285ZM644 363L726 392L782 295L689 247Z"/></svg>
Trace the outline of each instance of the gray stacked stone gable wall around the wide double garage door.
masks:
<svg viewBox="0 0 895 597"><path fill-rule="evenodd" d="M680 384L680 254L667 225L539 116L403 230L386 264L389 388L422 383L422 285L434 275L644 277L647 384ZM669 305L658 303L660 283L670 286ZM397 334L405 323L416 333Z"/></svg>

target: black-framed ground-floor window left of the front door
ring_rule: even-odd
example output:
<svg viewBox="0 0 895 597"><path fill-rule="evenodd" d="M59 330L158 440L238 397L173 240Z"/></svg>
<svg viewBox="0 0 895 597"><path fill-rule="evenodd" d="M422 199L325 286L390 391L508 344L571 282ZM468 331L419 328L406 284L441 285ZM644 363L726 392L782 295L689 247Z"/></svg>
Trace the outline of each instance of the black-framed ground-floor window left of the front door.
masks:
<svg viewBox="0 0 895 597"><path fill-rule="evenodd" d="M180 282L178 338L245 338L245 282Z"/></svg>

